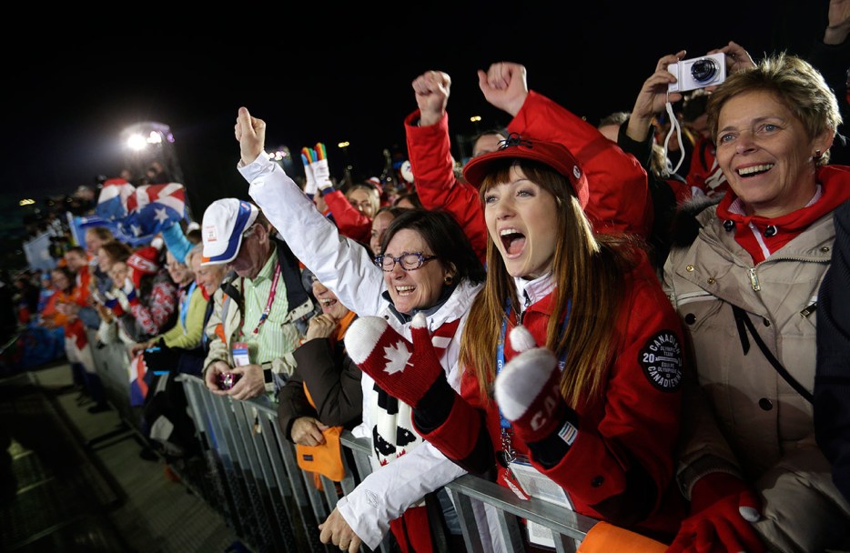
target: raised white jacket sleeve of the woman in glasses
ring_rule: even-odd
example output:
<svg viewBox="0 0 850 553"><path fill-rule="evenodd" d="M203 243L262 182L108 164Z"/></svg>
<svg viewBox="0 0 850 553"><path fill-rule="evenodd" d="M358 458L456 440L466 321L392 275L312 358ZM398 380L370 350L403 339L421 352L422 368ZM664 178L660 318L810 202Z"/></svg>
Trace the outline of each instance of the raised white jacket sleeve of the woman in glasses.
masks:
<svg viewBox="0 0 850 553"><path fill-rule="evenodd" d="M383 271L362 245L339 234L283 168L260 154L239 173L248 194L287 242L292 253L359 316L377 315L385 303Z"/></svg>

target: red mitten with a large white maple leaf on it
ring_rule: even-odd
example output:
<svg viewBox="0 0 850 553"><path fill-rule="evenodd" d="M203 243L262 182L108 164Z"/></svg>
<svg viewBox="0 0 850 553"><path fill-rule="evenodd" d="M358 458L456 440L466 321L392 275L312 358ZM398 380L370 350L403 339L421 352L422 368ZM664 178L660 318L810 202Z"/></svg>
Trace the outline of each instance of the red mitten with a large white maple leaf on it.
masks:
<svg viewBox="0 0 850 553"><path fill-rule="evenodd" d="M413 344L383 317L359 317L345 333L351 360L378 386L410 407L445 373L430 341L428 321L421 313L410 323Z"/></svg>

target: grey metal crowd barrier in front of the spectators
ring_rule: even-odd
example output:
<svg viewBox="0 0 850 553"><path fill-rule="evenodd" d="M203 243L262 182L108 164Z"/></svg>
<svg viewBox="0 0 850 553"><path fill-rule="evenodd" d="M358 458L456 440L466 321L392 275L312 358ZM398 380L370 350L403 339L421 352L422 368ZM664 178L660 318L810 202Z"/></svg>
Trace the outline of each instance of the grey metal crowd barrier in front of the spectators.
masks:
<svg viewBox="0 0 850 553"><path fill-rule="evenodd" d="M93 337L92 337L93 338ZM92 341L94 344L94 339ZM107 399L126 424L139 431L140 409L129 405L129 358L120 344L94 350L97 372ZM319 523L328 518L342 495L353 490L372 470L367 438L342 434L346 478L336 483L321 477L321 490L311 473L298 466L295 447L281 436L278 413L261 401L238 401L210 394L197 377L177 377L186 392L203 458L200 467L181 474L187 486L218 511L239 538L255 551L334 551L319 541ZM352 461L353 460L353 466ZM179 472L179 471L178 471ZM510 490L482 478L465 475L446 486L458 511L466 548L484 551L473 502L490 506L498 520L504 547L523 551L520 518L550 528L559 553L574 552L597 522L568 508L540 499L522 500ZM438 525L432 525L436 527ZM379 550L393 549L388 533ZM368 550L365 546L363 550Z"/></svg>

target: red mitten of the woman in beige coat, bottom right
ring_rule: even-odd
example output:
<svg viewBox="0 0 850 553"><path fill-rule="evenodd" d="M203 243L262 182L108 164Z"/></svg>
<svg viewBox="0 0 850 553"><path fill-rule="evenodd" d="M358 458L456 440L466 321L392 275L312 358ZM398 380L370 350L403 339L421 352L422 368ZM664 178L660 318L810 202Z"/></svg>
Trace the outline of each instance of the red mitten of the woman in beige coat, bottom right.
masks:
<svg viewBox="0 0 850 553"><path fill-rule="evenodd" d="M691 516L682 521L666 553L762 553L764 545L750 524L759 518L759 500L753 490L730 474L711 473L693 485Z"/></svg>

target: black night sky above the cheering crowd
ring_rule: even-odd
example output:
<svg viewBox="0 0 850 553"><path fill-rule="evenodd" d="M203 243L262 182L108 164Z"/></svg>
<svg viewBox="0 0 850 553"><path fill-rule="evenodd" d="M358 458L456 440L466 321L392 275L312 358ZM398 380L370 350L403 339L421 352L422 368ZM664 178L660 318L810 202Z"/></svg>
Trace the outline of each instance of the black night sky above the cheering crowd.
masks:
<svg viewBox="0 0 850 553"><path fill-rule="evenodd" d="M161 15L67 37L40 30L4 48L2 195L7 206L41 202L117 176L127 165L121 130L157 121L175 136L200 219L218 197L248 197L235 168L239 106L267 121L267 146L297 155L325 142L334 176L343 166L336 145L348 140L354 175L365 178L379 175L384 148L404 154L402 120L416 107L410 83L425 70L452 77L453 136L475 132L473 115L481 129L507 124L475 74L503 60L526 65L531 89L595 124L631 109L657 59L680 48L694 57L734 40L756 58L779 49L805 55L823 34L827 5L475 2L346 11L326 3L300 17L246 5L248 14L224 15L221 30ZM402 13L409 8L427 14ZM15 215L3 217L5 226L17 224Z"/></svg>

